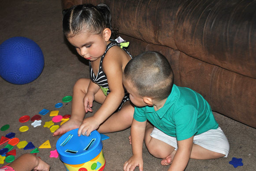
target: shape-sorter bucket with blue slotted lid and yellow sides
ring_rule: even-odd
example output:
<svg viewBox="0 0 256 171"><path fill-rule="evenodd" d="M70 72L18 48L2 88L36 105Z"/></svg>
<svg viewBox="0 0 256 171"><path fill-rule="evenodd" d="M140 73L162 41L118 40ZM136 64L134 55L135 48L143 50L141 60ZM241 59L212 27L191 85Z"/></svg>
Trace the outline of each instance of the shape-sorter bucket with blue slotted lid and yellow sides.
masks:
<svg viewBox="0 0 256 171"><path fill-rule="evenodd" d="M67 171L103 171L105 158L102 141L98 131L92 131L87 137L78 137L78 128L62 135L56 149Z"/></svg>

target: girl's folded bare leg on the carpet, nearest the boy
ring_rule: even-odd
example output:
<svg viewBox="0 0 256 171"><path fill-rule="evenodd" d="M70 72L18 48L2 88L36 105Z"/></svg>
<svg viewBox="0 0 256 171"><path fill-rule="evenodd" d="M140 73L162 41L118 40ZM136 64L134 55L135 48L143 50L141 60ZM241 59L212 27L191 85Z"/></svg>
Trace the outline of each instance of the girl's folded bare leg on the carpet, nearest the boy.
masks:
<svg viewBox="0 0 256 171"><path fill-rule="evenodd" d="M97 131L100 133L109 133L125 130L131 126L133 116L134 106L130 100L126 101L118 112L113 113L100 125Z"/></svg>

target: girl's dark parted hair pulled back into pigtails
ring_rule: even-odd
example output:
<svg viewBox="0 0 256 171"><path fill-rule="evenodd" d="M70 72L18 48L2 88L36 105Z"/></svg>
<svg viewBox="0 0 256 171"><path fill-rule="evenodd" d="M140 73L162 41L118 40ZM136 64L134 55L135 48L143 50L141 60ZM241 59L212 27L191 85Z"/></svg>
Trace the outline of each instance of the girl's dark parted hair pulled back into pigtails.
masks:
<svg viewBox="0 0 256 171"><path fill-rule="evenodd" d="M111 38L118 34L118 29L112 29L111 12L106 4L82 4L63 10L63 33L67 37L85 31L100 34L105 28L111 30Z"/></svg>

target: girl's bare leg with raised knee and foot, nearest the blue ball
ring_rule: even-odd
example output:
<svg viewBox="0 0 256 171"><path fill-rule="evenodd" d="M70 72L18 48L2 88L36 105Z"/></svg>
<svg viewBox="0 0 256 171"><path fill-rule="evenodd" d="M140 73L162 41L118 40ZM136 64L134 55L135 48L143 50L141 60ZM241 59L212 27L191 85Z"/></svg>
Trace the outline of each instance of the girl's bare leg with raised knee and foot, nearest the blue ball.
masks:
<svg viewBox="0 0 256 171"><path fill-rule="evenodd" d="M73 130L78 128L84 117L85 117L85 107L83 103L83 99L87 93L87 89L90 83L89 78L81 78L79 79L73 88L73 99L72 99L72 106L71 106L71 117L66 123L64 123L59 129L57 129L53 136L62 135L67 131ZM103 103L106 96L103 94L101 90L99 90L95 94L95 101L99 103Z"/></svg>

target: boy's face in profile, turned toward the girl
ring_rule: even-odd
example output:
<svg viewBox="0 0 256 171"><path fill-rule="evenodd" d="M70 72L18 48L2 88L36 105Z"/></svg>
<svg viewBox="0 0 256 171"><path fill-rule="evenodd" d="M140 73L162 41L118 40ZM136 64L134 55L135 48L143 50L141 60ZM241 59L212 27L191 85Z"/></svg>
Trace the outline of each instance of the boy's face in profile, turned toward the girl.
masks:
<svg viewBox="0 0 256 171"><path fill-rule="evenodd" d="M147 104L143 101L143 97L138 95L137 90L131 84L130 80L123 79L123 85L126 88L126 91L130 94L130 100L135 106L147 106Z"/></svg>

